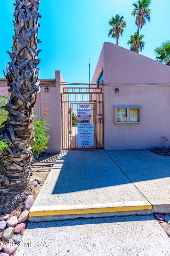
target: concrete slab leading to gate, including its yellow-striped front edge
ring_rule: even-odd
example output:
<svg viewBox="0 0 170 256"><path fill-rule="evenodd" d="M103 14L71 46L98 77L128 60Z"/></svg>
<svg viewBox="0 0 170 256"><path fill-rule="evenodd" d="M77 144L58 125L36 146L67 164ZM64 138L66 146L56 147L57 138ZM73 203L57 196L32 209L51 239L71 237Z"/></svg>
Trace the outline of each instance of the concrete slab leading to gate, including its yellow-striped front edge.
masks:
<svg viewBox="0 0 170 256"><path fill-rule="evenodd" d="M83 214L104 217L113 212L147 214L151 210L146 197L106 151L69 150L59 155L29 216L30 220L39 221L78 218Z"/></svg>

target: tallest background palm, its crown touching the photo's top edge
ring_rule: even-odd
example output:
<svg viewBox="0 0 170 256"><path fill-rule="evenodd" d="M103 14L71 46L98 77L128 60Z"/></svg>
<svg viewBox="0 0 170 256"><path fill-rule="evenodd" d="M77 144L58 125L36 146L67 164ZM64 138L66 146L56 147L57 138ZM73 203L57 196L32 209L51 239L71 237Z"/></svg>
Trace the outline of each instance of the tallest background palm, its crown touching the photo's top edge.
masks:
<svg viewBox="0 0 170 256"><path fill-rule="evenodd" d="M132 4L135 7L132 11L132 15L136 17L135 24L137 25L137 50L139 44L139 30L145 25L146 21L150 22L151 20L151 9L148 9L150 4L151 0L137 0L137 2Z"/></svg>

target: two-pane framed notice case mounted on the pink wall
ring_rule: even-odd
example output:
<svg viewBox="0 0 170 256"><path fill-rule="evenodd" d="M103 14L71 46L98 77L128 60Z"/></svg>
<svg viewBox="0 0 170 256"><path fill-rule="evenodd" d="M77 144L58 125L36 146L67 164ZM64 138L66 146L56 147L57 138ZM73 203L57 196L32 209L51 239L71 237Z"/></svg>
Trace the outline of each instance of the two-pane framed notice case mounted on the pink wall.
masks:
<svg viewBox="0 0 170 256"><path fill-rule="evenodd" d="M114 105L115 123L140 123L141 106L140 105Z"/></svg>

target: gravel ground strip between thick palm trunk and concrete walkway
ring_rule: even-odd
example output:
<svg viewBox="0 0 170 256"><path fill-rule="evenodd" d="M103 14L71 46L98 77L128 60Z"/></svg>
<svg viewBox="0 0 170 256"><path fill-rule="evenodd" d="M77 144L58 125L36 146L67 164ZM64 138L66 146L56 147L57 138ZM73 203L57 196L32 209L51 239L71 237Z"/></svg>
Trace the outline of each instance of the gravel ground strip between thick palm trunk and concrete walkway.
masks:
<svg viewBox="0 0 170 256"><path fill-rule="evenodd" d="M40 185L38 185L37 187L33 186L32 194L34 199L38 195L41 189L41 186L44 184L46 177L51 171L51 168L55 163L57 156L58 154L55 154L55 153L54 154L43 153L41 157L37 159L38 162L32 165L32 176L30 178L33 181L38 177L41 178Z"/></svg>

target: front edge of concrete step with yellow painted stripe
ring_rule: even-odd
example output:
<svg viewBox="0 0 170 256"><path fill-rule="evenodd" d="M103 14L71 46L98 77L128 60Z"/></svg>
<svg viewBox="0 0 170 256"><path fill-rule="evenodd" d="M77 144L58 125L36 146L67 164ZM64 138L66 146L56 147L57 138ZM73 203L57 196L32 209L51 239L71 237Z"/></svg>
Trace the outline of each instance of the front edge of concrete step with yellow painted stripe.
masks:
<svg viewBox="0 0 170 256"><path fill-rule="evenodd" d="M32 206L29 213L31 222L66 220L77 218L99 218L111 216L151 214L152 206L146 201L121 202L96 205Z"/></svg>

